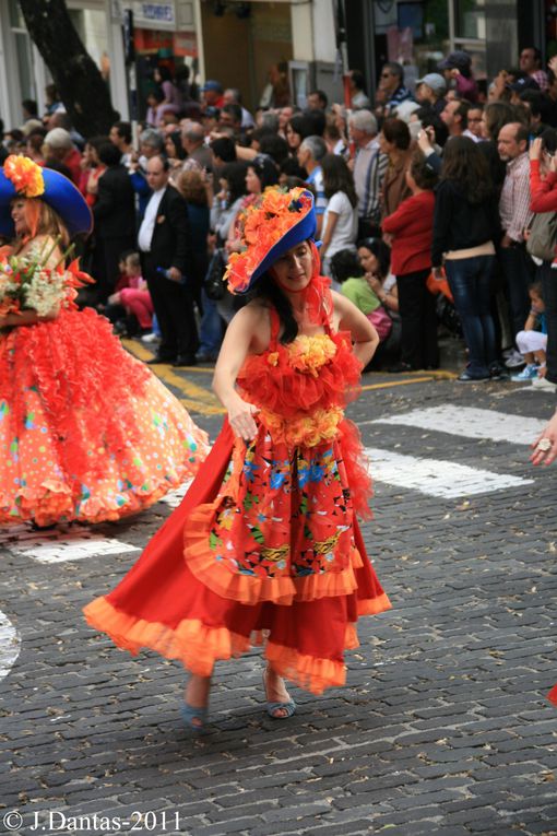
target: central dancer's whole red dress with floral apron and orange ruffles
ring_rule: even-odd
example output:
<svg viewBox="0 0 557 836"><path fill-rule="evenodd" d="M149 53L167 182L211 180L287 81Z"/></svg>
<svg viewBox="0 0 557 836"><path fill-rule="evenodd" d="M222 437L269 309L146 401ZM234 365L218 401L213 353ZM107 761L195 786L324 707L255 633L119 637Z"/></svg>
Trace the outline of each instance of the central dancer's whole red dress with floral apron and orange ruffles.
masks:
<svg viewBox="0 0 557 836"><path fill-rule="evenodd" d="M360 615L390 608L355 511L370 480L343 409L360 364L346 333L277 341L238 378L260 407L246 445L225 421L182 504L87 622L122 648L152 648L210 675L264 643L273 668L320 694L345 681Z"/></svg>

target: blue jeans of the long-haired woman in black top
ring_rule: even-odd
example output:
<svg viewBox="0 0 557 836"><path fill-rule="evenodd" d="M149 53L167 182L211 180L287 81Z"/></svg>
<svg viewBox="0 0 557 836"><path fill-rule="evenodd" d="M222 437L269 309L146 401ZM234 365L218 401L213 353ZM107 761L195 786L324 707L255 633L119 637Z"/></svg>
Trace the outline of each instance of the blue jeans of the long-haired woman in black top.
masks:
<svg viewBox="0 0 557 836"><path fill-rule="evenodd" d="M495 325L490 314L490 278L495 256L474 256L445 262L454 306L469 350L469 374L487 377L497 362Z"/></svg>

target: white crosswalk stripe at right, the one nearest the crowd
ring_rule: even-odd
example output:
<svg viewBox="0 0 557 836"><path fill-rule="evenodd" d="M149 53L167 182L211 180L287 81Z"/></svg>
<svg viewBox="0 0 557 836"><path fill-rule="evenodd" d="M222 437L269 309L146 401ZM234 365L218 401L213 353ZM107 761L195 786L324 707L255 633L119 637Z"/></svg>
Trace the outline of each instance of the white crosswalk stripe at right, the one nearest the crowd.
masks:
<svg viewBox="0 0 557 836"><path fill-rule="evenodd" d="M446 404L425 410L412 410L402 415L365 421L364 424L399 424L437 433L449 433L463 438L486 438L491 441L532 444L547 421L511 415L495 410Z"/></svg>

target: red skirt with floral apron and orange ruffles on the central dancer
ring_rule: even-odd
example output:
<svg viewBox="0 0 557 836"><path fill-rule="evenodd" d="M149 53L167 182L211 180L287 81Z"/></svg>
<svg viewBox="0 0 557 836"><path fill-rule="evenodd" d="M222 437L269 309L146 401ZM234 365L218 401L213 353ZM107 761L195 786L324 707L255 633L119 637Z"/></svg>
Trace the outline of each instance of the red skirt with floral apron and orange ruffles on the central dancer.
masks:
<svg viewBox="0 0 557 836"><path fill-rule="evenodd" d="M263 426L246 449L225 422L179 508L120 585L85 608L87 622L203 676L264 644L301 687L342 685L358 617L390 608L346 490L351 444L344 427L293 459Z"/></svg>

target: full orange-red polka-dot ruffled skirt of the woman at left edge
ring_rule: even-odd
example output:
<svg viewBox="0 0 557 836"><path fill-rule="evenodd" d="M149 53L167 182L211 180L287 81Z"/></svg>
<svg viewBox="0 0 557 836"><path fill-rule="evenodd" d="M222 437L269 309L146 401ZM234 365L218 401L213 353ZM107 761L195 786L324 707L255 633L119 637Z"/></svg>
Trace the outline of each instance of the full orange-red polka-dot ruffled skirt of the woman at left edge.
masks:
<svg viewBox="0 0 557 836"><path fill-rule="evenodd" d="M117 520L193 475L208 451L94 310L0 332L0 525Z"/></svg>

